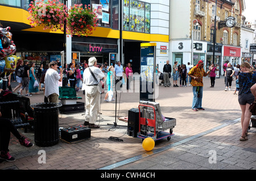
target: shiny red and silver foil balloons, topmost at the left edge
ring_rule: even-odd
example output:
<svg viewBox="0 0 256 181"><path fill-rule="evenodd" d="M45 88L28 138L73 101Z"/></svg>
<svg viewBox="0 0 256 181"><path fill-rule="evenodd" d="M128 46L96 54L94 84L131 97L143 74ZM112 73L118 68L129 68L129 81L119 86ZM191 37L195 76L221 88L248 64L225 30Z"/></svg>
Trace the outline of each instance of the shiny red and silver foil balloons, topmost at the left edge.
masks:
<svg viewBox="0 0 256 181"><path fill-rule="evenodd" d="M11 28L0 28L0 40L2 44L2 50L0 48L0 59L3 59L16 52L16 45L12 38L13 34L10 32Z"/></svg>

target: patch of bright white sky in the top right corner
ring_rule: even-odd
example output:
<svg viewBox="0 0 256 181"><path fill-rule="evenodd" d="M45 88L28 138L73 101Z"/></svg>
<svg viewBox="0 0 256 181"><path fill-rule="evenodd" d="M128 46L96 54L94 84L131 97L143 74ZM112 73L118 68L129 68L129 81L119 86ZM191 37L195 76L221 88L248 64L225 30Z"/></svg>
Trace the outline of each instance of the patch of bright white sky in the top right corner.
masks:
<svg viewBox="0 0 256 181"><path fill-rule="evenodd" d="M245 0L245 11L242 12L245 16L245 20L253 22L256 20L256 1L255 0Z"/></svg>

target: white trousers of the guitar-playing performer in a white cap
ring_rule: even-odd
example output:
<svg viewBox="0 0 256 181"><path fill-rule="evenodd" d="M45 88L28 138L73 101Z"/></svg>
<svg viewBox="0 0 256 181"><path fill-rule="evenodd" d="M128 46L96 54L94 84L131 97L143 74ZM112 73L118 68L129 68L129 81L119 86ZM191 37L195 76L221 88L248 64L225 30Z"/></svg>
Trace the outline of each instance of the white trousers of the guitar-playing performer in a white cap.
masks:
<svg viewBox="0 0 256 181"><path fill-rule="evenodd" d="M97 86L85 86L85 121L96 124L100 112L100 92Z"/></svg>

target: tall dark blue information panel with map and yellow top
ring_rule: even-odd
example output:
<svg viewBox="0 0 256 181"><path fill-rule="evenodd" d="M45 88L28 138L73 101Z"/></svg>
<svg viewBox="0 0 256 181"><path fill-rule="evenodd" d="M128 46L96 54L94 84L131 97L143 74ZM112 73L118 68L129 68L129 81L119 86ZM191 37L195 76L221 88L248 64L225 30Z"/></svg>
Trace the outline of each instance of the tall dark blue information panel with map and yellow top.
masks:
<svg viewBox="0 0 256 181"><path fill-rule="evenodd" d="M140 99L155 101L155 49L156 43L141 44Z"/></svg>

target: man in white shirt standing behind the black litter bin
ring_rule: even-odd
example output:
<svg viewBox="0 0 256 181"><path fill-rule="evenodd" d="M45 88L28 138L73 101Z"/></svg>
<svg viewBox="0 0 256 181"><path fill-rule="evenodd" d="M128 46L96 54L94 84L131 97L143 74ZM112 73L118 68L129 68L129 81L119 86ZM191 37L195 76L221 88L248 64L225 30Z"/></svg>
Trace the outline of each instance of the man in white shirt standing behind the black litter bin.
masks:
<svg viewBox="0 0 256 181"><path fill-rule="evenodd" d="M44 96L46 96L51 103L59 103L59 82L61 82L63 78L63 69L60 68L59 75L57 72L58 67L56 61L51 61L49 63L49 69L46 71L46 77L44 78Z"/></svg>

